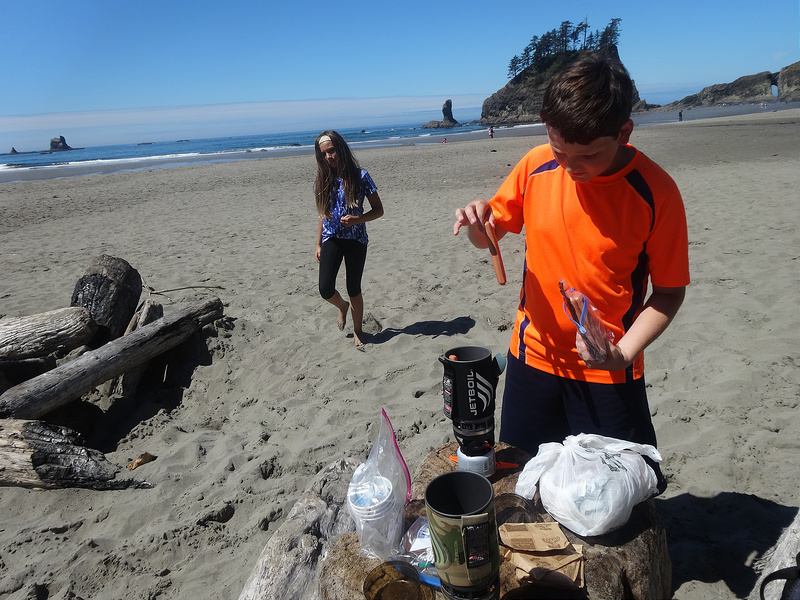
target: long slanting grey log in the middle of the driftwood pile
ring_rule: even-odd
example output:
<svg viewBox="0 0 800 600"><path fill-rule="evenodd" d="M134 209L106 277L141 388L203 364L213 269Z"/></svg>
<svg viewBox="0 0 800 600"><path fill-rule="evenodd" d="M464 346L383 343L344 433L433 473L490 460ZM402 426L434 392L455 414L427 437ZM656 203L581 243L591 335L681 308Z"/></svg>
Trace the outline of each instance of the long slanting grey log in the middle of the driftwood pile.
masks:
<svg viewBox="0 0 800 600"><path fill-rule="evenodd" d="M80 398L104 381L186 341L204 325L222 316L219 298L170 313L130 335L6 390L0 396L0 417L38 419Z"/></svg>

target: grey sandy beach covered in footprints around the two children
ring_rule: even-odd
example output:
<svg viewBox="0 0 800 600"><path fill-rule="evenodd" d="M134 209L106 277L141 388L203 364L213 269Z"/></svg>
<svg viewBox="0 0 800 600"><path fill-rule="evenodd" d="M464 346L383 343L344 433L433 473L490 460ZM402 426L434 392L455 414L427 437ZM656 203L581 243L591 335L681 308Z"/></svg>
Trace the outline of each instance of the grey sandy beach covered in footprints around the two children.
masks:
<svg viewBox="0 0 800 600"><path fill-rule="evenodd" d="M0 597L236 598L313 476L366 457L381 408L412 472L452 440L437 357L507 351L523 253L503 239L499 286L453 213L544 141L500 130L357 153L386 210L368 225L364 351L317 292L311 155L1 184L0 316L68 306L105 253L156 292L186 288L154 296L165 312L216 296L233 326L191 377L137 403L83 402L102 409L81 412L109 460L157 455L133 472L153 489L0 488ZM689 223L692 284L645 354L675 597L746 597L800 507L800 109L631 141L676 180Z"/></svg>

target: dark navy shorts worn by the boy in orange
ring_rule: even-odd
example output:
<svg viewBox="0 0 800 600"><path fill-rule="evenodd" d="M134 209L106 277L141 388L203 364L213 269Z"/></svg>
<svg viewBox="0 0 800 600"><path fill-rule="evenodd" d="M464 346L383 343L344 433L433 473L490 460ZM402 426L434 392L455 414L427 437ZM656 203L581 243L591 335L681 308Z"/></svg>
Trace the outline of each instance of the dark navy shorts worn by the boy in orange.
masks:
<svg viewBox="0 0 800 600"><path fill-rule="evenodd" d="M625 383L587 383L527 366L510 352L500 441L535 455L539 444L594 433L656 445L644 377ZM659 487L666 487L658 465Z"/></svg>

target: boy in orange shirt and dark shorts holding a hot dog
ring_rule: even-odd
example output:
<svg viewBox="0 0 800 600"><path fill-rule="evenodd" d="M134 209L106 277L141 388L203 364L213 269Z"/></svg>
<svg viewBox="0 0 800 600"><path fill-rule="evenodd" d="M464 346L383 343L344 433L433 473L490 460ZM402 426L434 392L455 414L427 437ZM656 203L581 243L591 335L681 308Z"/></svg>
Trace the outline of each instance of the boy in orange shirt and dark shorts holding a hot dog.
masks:
<svg viewBox="0 0 800 600"><path fill-rule="evenodd" d="M656 444L643 351L683 303L688 236L674 181L628 144L632 96L616 60L588 55L568 65L539 113L549 143L528 152L491 200L456 210L453 232L467 227L478 248L487 247L486 223L498 238L525 230L499 439L533 454L578 433ZM603 338L605 358L595 360L578 333L562 279L613 333L613 343Z"/></svg>

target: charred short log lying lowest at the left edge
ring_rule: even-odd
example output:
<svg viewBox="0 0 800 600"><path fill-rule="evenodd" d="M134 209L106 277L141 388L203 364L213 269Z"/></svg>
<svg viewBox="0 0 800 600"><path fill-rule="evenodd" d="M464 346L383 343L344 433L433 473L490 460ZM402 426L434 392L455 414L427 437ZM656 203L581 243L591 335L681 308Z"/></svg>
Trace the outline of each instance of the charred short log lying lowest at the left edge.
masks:
<svg viewBox="0 0 800 600"><path fill-rule="evenodd" d="M116 479L118 473L102 452L84 447L80 435L71 429L40 421L0 419L0 486L152 487L130 478Z"/></svg>

